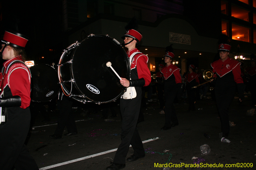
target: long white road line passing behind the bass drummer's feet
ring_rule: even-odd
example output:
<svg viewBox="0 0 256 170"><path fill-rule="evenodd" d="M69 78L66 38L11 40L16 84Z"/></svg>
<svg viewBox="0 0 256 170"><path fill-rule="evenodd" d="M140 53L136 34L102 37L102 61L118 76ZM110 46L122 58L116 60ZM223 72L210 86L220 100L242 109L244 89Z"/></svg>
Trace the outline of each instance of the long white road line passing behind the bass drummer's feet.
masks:
<svg viewBox="0 0 256 170"><path fill-rule="evenodd" d="M156 137L155 139L148 139L148 140L142 141L142 143L144 144L144 143L147 143L147 142L156 140L156 139L159 139L159 138ZM132 145L130 145L130 147L131 147L131 146L132 146ZM88 159L88 158L93 158L93 157L96 157L96 156L99 156L99 155L104 155L104 154L106 154L106 153L115 152L116 150L117 150L117 148L116 148L116 149L109 150L109 151L105 151L105 152L96 153L96 154L93 154L93 155L90 155L90 156L86 156L86 157L83 157L83 158L78 158L78 159L69 160L69 161L62 162L62 163L55 164L55 165L45 166L45 167L43 167L43 168L40 168L40 170L51 169L51 168L54 168L54 167L57 167L57 166L62 166L62 165L70 164L70 163L77 162L77 161L80 161L80 160L84 160L84 159Z"/></svg>

